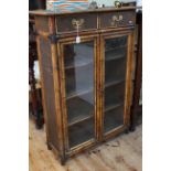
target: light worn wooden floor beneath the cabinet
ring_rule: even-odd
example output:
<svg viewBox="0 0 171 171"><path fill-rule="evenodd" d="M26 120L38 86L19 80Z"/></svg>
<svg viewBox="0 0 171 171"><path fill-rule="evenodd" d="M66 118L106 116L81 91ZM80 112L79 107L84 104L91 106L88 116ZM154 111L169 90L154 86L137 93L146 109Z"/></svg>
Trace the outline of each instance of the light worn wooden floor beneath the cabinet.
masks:
<svg viewBox="0 0 171 171"><path fill-rule="evenodd" d="M141 171L142 127L68 159L64 167L47 150L44 129L29 125L29 171Z"/></svg>

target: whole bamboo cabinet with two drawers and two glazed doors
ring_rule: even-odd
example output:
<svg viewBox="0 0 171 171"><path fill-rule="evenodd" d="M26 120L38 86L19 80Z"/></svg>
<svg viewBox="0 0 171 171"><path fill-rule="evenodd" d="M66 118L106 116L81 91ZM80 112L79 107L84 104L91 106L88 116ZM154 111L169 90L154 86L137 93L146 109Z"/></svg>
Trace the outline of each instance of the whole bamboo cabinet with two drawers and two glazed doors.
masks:
<svg viewBox="0 0 171 171"><path fill-rule="evenodd" d="M30 12L35 15L47 147L62 163L128 130L135 10Z"/></svg>

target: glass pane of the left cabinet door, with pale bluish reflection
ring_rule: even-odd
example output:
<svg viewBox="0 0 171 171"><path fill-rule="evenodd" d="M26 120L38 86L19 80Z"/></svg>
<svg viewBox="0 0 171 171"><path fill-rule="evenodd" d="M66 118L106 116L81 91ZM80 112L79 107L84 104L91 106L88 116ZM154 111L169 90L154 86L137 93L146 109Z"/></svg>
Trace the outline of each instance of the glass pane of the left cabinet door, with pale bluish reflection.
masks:
<svg viewBox="0 0 171 171"><path fill-rule="evenodd" d="M68 142L94 138L94 42L64 45Z"/></svg>

